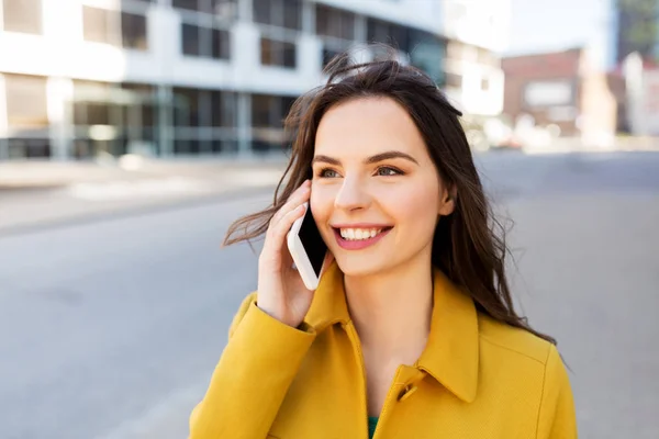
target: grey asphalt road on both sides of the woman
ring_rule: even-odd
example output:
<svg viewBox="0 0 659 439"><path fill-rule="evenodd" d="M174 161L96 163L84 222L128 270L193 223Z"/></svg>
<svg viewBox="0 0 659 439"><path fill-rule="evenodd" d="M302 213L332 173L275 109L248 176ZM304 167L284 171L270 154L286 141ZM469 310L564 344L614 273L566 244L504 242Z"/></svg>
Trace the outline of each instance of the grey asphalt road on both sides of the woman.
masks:
<svg viewBox="0 0 659 439"><path fill-rule="evenodd" d="M515 294L572 370L580 437L659 437L659 154L479 162L515 222ZM1 237L0 438L185 438L256 285L256 255L222 235L267 200Z"/></svg>

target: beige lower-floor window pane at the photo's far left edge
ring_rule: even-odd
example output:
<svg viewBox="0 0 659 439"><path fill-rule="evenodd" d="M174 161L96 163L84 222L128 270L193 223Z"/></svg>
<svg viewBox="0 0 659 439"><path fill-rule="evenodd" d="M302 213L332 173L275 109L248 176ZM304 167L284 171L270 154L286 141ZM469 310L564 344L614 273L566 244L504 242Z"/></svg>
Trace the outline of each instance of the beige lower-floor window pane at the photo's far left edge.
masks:
<svg viewBox="0 0 659 439"><path fill-rule="evenodd" d="M7 117L10 127L48 126L46 78L5 74L4 86Z"/></svg>

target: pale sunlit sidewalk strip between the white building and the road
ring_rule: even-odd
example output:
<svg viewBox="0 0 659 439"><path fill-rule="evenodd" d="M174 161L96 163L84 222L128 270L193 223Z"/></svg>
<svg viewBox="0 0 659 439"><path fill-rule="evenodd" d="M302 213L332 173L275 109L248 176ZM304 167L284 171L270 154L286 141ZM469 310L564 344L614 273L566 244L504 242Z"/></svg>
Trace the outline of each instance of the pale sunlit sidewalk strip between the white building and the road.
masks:
<svg viewBox="0 0 659 439"><path fill-rule="evenodd" d="M286 157L0 164L0 236L271 191Z"/></svg>

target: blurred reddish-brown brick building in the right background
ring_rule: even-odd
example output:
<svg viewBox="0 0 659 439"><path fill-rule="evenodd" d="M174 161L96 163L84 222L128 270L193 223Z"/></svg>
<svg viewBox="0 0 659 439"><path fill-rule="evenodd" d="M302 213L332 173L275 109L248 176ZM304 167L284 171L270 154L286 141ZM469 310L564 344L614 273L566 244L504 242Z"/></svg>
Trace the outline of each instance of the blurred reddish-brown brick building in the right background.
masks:
<svg viewBox="0 0 659 439"><path fill-rule="evenodd" d="M587 144L613 140L619 83L615 89L610 85L615 78L593 61L588 49L515 56L504 58L502 66L503 112L514 123L552 127Z"/></svg>

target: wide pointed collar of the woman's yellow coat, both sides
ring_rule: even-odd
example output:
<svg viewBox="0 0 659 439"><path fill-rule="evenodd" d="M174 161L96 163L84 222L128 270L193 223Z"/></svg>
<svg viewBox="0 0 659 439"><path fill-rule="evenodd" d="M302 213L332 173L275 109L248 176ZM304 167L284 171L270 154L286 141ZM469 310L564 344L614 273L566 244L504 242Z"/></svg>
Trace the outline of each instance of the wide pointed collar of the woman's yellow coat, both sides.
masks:
<svg viewBox="0 0 659 439"><path fill-rule="evenodd" d="M478 385L478 314L471 297L440 270L434 270L431 334L415 364L460 399L476 399ZM343 273L336 262L323 274L306 322L321 333L330 325L350 323Z"/></svg>

